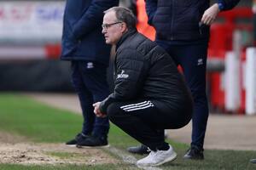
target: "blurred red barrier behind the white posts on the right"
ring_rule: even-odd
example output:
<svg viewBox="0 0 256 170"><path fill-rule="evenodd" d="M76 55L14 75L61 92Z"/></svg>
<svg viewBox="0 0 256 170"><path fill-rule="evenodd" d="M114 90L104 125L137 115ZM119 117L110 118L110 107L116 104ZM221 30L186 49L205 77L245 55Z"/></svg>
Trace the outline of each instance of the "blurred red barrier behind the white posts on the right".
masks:
<svg viewBox="0 0 256 170"><path fill-rule="evenodd" d="M224 59L225 53L233 49L233 33L235 30L252 31L252 23L240 23L239 19L252 19L253 12L251 8L234 8L227 12L218 14L218 20L223 20L223 23L215 23L211 26L211 38L208 48L208 58ZM245 47L241 47L245 48ZM241 53L241 61L245 61L244 52ZM241 80L243 77L243 67L241 66ZM210 83L210 102L213 109L224 111L224 80L223 73L209 73L207 76ZM245 90L241 81L241 107L239 113L245 111Z"/></svg>

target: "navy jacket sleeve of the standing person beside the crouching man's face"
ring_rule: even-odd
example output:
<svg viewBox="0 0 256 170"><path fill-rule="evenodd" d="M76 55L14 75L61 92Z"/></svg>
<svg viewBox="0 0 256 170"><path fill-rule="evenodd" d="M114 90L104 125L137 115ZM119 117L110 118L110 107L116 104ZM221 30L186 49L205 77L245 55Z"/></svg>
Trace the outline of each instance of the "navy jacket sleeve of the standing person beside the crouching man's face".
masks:
<svg viewBox="0 0 256 170"><path fill-rule="evenodd" d="M103 12L118 5L118 0L92 0L80 20L73 26L73 38L80 39L102 25Z"/></svg>

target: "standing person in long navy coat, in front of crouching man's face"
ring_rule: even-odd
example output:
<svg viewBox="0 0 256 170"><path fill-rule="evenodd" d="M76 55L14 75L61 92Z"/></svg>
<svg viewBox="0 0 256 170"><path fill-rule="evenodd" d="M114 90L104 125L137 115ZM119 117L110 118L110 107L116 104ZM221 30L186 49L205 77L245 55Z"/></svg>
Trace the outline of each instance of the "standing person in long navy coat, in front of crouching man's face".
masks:
<svg viewBox="0 0 256 170"><path fill-rule="evenodd" d="M118 0L67 0L63 19L61 59L71 61L72 82L79 95L84 122L70 146L108 145L108 117L96 117L93 103L109 94L107 68L110 46L102 37L103 11Z"/></svg>

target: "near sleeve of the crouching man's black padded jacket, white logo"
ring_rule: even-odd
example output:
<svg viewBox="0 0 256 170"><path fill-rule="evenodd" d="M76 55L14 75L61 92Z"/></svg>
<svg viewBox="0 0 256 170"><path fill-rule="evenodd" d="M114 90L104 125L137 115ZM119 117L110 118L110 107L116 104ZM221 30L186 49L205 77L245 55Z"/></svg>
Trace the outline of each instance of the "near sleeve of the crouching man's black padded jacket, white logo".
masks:
<svg viewBox="0 0 256 170"><path fill-rule="evenodd" d="M139 95L143 88L146 72L143 60L138 60L138 58L143 59L140 55L131 49L124 49L122 54L118 54L113 94L101 102L100 111L102 113L106 114L108 105L113 102L136 99Z"/></svg>

